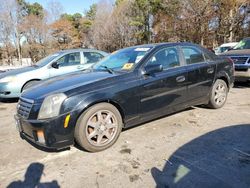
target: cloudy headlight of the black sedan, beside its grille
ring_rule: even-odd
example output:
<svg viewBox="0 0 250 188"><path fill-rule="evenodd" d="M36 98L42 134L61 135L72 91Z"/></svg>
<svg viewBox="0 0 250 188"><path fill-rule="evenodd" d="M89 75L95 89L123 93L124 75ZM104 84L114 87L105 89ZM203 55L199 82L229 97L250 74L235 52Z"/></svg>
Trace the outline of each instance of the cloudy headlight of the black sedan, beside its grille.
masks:
<svg viewBox="0 0 250 188"><path fill-rule="evenodd" d="M48 119L58 116L60 113L61 105L66 98L67 96L63 93L46 97L40 108L38 119Z"/></svg>

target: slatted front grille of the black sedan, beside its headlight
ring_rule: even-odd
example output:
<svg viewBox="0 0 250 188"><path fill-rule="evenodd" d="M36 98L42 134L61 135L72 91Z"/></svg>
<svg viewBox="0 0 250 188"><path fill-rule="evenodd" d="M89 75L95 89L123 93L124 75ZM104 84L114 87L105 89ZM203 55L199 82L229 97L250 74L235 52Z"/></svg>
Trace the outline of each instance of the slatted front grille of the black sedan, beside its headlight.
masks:
<svg viewBox="0 0 250 188"><path fill-rule="evenodd" d="M17 104L17 113L25 119L28 119L34 101L20 98Z"/></svg>

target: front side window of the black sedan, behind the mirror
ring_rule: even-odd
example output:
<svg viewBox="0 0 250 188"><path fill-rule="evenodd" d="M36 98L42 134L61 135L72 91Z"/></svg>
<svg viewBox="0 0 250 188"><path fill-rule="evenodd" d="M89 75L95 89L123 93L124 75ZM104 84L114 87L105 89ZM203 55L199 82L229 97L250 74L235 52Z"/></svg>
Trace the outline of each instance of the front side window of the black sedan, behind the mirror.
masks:
<svg viewBox="0 0 250 188"><path fill-rule="evenodd" d="M176 48L164 48L158 51L147 63L147 65L161 64L163 69L180 66L178 51Z"/></svg>

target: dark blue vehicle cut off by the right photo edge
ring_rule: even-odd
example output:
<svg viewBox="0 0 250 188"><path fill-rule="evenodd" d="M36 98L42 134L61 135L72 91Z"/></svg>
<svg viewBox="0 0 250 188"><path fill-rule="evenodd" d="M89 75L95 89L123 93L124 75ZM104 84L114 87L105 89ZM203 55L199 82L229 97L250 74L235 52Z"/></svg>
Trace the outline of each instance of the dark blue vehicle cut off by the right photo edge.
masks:
<svg viewBox="0 0 250 188"><path fill-rule="evenodd" d="M236 81L250 81L250 38L243 39L232 50L221 55L234 61Z"/></svg>

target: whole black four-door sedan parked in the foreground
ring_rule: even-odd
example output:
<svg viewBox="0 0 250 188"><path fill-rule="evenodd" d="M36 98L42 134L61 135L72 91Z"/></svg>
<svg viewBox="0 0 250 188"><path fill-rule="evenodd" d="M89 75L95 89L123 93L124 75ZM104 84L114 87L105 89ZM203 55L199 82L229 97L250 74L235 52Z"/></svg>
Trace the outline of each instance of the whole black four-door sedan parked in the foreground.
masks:
<svg viewBox="0 0 250 188"><path fill-rule="evenodd" d="M193 105L221 108L233 80L232 61L198 45L135 46L32 87L15 118L21 137L37 145L60 149L76 141L97 152L123 128Z"/></svg>

